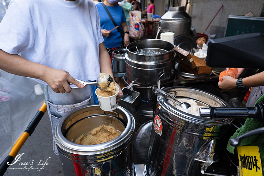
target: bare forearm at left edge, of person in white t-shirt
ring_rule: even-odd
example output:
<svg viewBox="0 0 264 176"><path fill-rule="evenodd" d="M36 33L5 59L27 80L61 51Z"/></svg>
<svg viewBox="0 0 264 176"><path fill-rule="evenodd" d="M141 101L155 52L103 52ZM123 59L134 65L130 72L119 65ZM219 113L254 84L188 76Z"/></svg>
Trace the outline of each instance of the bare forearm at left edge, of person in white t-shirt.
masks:
<svg viewBox="0 0 264 176"><path fill-rule="evenodd" d="M9 54L0 49L0 69L20 76L43 80L48 66L29 61L19 55Z"/></svg>

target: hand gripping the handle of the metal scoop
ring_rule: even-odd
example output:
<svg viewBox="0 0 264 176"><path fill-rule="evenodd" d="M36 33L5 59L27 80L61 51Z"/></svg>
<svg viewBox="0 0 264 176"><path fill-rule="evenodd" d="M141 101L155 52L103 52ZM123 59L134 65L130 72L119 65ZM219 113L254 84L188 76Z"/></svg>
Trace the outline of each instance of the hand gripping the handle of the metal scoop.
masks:
<svg viewBox="0 0 264 176"><path fill-rule="evenodd" d="M84 87L84 85L71 77L67 71L61 69L49 68L45 73L43 81L45 81L56 93L70 93L71 87L69 83L73 83L79 88Z"/></svg>

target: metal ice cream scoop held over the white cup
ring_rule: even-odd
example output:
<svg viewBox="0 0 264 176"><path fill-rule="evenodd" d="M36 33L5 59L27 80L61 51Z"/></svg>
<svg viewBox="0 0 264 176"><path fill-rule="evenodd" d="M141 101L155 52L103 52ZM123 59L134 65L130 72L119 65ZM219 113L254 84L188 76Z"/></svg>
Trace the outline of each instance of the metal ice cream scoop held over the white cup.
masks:
<svg viewBox="0 0 264 176"><path fill-rule="evenodd" d="M109 87L110 83L114 82L114 79L112 78L112 76L110 76L109 74L106 74L106 73L99 75L98 78L96 79L96 82L89 82L88 83L88 82L85 82L85 81L82 81L79 79L76 79L76 80L78 82L80 82L81 84L83 84L84 86L96 84L100 90L106 90ZM106 86L101 87L103 82L105 83L104 85L106 85ZM75 85L70 83L70 86L75 86ZM71 87L71 88L75 89L75 88L79 88L79 87L75 86L75 87Z"/></svg>

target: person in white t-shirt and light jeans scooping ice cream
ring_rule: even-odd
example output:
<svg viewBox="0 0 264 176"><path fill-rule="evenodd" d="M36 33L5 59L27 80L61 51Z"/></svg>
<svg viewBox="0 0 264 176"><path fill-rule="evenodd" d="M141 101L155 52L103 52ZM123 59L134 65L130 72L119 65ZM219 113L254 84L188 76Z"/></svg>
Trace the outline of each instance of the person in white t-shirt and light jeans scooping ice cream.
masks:
<svg viewBox="0 0 264 176"><path fill-rule="evenodd" d="M44 84L52 131L63 115L97 100L95 87L75 78L94 81L100 72L113 77L91 0L11 0L0 31L0 69ZM71 90L69 83L79 88Z"/></svg>

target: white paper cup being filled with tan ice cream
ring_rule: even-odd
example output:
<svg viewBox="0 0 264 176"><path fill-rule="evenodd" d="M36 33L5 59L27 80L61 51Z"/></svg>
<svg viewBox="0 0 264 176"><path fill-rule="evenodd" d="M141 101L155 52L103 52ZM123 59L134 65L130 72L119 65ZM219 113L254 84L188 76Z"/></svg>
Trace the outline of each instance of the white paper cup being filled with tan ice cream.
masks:
<svg viewBox="0 0 264 176"><path fill-rule="evenodd" d="M97 96L100 108L103 111L113 111L117 108L118 106L118 93L119 93L119 88L116 86L116 94L111 96L111 97L101 97L97 94L98 88L95 90L95 94Z"/></svg>

